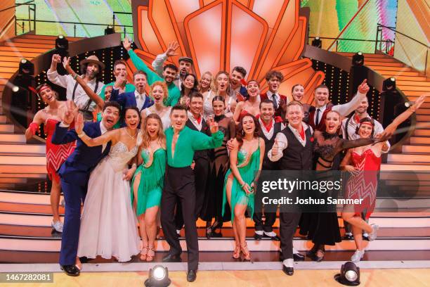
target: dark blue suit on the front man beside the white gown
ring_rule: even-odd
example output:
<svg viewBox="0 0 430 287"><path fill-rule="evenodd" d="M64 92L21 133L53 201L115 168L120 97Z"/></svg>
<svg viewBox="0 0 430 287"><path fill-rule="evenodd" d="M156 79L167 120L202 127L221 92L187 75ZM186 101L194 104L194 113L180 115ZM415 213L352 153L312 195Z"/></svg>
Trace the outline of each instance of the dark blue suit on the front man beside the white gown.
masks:
<svg viewBox="0 0 430 287"><path fill-rule="evenodd" d="M86 122L84 132L91 138L100 136L100 122ZM86 146L74 129L68 130L67 127L60 127L60 123L57 124L51 140L53 144L67 144L75 140L76 148L58 170L65 199L60 265L72 265L76 260L81 225L81 203L86 196L90 172L109 153L111 144L108 142L102 152L103 146Z"/></svg>

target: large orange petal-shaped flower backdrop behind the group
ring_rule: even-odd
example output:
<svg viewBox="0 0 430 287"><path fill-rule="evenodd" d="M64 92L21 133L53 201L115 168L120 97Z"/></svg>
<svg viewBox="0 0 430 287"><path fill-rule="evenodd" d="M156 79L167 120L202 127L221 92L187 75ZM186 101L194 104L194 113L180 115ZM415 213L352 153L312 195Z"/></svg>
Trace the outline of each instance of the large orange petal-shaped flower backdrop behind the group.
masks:
<svg viewBox="0 0 430 287"><path fill-rule="evenodd" d="M285 77L280 93L290 96L294 84L303 84L307 103L323 82L324 73L300 58L307 20L299 16L299 0L133 0L132 8L135 51L149 66L177 41L178 56L169 61L192 57L197 77L240 65L266 91L264 75L279 70ZM129 69L135 69L130 61Z"/></svg>

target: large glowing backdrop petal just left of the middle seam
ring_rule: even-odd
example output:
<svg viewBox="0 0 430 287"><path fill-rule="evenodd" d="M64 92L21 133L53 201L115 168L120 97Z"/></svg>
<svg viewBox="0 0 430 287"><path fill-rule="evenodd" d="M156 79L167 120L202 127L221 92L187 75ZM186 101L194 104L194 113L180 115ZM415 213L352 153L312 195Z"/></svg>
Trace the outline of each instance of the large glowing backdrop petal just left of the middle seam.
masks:
<svg viewBox="0 0 430 287"><path fill-rule="evenodd" d="M225 3L215 1L185 18L186 36L195 61L197 77L200 77L202 72L210 71L216 74L225 68L225 15Z"/></svg>

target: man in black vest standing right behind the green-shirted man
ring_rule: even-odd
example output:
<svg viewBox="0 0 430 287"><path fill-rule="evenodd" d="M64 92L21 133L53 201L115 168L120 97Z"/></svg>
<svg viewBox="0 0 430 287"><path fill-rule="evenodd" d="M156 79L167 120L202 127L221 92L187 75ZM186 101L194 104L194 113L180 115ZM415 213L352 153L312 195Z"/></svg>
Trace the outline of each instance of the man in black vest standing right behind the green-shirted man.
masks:
<svg viewBox="0 0 430 287"><path fill-rule="evenodd" d="M190 110L188 111L188 120L185 126L195 131L202 132L211 136L211 129L202 117L203 113L203 96L198 92L190 94ZM195 151L193 162L195 174L195 219L200 216L204 203L204 195L207 189L207 178L209 175L209 150ZM183 217L181 205L176 207L176 232L179 233L183 227Z"/></svg>

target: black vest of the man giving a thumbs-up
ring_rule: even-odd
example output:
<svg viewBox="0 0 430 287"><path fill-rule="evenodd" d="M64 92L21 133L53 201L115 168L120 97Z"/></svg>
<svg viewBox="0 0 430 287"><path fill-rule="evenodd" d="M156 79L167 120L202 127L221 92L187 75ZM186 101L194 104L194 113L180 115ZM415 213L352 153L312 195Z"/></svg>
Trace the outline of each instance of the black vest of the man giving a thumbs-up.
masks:
<svg viewBox="0 0 430 287"><path fill-rule="evenodd" d="M285 135L288 141L287 148L282 152L282 158L280 158L280 169L281 170L311 170L312 169L312 154L313 144L311 142L311 129L308 128L305 131L306 145L302 146L300 141L294 136L289 127L286 127L282 134Z"/></svg>

